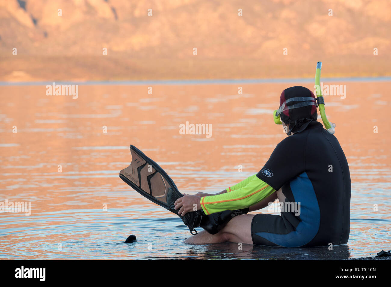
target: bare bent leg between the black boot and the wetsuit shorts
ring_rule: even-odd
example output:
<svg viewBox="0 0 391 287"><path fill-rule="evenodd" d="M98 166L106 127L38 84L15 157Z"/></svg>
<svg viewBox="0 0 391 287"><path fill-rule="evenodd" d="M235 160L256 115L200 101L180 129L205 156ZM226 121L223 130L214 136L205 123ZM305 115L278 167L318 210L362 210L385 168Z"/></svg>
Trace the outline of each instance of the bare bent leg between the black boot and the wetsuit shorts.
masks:
<svg viewBox="0 0 391 287"><path fill-rule="evenodd" d="M205 244L235 242L253 244L251 238L251 221L254 214L243 214L232 218L227 225L216 234L209 234L205 230L197 235L187 238L184 243Z"/></svg>

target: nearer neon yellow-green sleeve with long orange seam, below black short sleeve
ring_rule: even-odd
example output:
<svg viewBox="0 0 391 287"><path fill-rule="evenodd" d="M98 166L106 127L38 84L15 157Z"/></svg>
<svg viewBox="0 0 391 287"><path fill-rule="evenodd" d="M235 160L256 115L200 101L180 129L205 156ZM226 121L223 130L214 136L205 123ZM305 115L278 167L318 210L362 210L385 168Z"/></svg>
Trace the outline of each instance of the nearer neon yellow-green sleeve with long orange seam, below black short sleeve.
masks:
<svg viewBox="0 0 391 287"><path fill-rule="evenodd" d="M201 207L205 214L250 207L271 195L275 190L258 177L237 190L201 197Z"/></svg>

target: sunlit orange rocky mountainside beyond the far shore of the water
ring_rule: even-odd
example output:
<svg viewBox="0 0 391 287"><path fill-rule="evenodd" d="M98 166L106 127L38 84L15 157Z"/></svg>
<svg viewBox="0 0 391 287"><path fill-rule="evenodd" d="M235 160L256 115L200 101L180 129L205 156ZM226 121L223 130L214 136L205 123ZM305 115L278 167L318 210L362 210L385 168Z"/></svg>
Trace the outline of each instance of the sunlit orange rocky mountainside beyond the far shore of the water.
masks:
<svg viewBox="0 0 391 287"><path fill-rule="evenodd" d="M390 75L390 28L390 0L0 0L0 80Z"/></svg>

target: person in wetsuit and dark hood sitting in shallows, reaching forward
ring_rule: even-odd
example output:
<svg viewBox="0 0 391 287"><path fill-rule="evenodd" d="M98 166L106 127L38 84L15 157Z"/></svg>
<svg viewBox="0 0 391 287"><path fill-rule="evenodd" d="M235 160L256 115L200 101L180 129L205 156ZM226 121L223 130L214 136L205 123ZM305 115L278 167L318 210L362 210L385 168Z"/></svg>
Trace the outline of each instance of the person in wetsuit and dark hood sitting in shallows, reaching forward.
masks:
<svg viewBox="0 0 391 287"><path fill-rule="evenodd" d="M226 210L255 211L276 198L281 215L243 214L217 234L206 231L186 243L237 242L265 246L346 244L350 230L350 173L337 138L317 122L314 94L305 87L283 90L280 119L289 135L274 149L264 167L216 195L198 193L179 198L179 214ZM247 209L248 208L248 209Z"/></svg>

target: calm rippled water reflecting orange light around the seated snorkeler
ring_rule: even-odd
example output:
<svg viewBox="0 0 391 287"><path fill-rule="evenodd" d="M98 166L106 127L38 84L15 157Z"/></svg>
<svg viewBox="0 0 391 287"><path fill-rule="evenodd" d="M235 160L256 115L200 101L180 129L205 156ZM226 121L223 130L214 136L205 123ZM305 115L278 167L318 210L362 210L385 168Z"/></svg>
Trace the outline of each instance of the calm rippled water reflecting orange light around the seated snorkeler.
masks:
<svg viewBox="0 0 391 287"><path fill-rule="evenodd" d="M271 116L280 92L296 84L312 88L244 83L238 94L237 84L152 85L148 94L149 85L81 85L72 99L47 96L45 84L2 86L0 201L31 202L32 210L0 213L0 259L347 259L390 250L390 81L348 82L346 99L325 97L352 177L348 245L183 244L190 233L182 221L119 179L129 144L184 193L221 191L258 172L286 136ZM212 124L212 136L180 135L186 121ZM124 243L131 234L138 242Z"/></svg>

